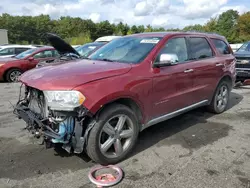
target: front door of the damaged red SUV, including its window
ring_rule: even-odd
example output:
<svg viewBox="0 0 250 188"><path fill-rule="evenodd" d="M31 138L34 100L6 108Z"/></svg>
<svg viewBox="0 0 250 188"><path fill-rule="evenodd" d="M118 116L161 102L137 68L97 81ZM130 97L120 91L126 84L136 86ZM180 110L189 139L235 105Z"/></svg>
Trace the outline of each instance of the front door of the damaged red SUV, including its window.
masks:
<svg viewBox="0 0 250 188"><path fill-rule="evenodd" d="M154 69L153 75L153 118L163 116L189 106L193 102L193 69L189 63L185 37L169 39L157 55L175 54L176 65Z"/></svg>

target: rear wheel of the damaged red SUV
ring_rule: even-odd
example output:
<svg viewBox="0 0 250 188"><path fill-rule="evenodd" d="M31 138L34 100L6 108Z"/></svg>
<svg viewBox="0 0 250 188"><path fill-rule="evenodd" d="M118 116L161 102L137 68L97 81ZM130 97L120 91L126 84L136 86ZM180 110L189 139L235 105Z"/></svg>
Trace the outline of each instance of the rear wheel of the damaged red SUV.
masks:
<svg viewBox="0 0 250 188"><path fill-rule="evenodd" d="M231 85L227 81L221 81L216 88L213 99L208 106L208 110L215 114L223 113L230 99Z"/></svg>

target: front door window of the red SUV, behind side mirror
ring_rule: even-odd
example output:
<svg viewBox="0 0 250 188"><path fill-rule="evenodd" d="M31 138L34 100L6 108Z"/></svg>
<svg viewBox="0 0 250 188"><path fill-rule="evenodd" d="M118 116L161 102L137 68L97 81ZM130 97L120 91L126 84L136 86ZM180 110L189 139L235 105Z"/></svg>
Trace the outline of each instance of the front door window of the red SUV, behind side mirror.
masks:
<svg viewBox="0 0 250 188"><path fill-rule="evenodd" d="M180 63L188 60L188 51L185 38L173 38L167 41L165 46L161 49L156 58L156 62L159 62L162 54L175 54L178 57Z"/></svg>

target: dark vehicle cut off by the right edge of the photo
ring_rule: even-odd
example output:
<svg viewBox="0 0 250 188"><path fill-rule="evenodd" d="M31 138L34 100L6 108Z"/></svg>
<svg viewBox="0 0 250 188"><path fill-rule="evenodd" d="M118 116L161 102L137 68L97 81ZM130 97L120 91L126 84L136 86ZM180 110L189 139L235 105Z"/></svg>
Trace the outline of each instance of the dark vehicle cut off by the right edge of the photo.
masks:
<svg viewBox="0 0 250 188"><path fill-rule="evenodd" d="M250 79L250 41L245 42L235 53L237 81Z"/></svg>

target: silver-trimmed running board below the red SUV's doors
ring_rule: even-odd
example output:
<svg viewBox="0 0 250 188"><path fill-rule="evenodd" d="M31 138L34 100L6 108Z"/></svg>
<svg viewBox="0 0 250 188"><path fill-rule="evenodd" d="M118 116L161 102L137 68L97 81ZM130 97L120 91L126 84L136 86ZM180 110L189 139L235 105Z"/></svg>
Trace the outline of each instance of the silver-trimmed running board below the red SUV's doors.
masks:
<svg viewBox="0 0 250 188"><path fill-rule="evenodd" d="M163 121L166 121L166 120L169 120L173 117L176 117L178 115L181 115L185 112L188 112L190 110L193 110L195 108L198 108L198 107L202 107L202 106L205 106L208 104L208 100L204 100L204 101L201 101L201 102L198 102L198 103L195 103L195 104L192 104L190 106L187 106L185 108L182 108L182 109L179 109L177 111L174 111L174 112L171 112L171 113L168 113L168 114L165 114L163 116L160 116L160 117L157 117L157 118L154 118L152 120L150 120L146 125L143 125L142 128L141 128L141 131L143 131L144 129L152 126L152 125L155 125L155 124L158 124L160 122L163 122Z"/></svg>

